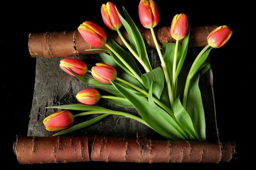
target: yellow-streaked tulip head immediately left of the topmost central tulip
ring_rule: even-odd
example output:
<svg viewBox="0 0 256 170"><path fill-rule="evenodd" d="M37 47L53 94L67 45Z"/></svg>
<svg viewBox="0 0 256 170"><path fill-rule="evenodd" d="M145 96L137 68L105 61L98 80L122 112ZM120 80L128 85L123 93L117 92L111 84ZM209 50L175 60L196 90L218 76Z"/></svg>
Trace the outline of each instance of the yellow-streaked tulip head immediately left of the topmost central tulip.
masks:
<svg viewBox="0 0 256 170"><path fill-rule="evenodd" d="M121 14L120 11L119 14ZM118 30L123 25L115 11L115 5L111 2L102 4L101 15L105 25L111 30Z"/></svg>

